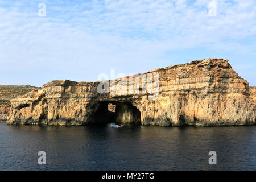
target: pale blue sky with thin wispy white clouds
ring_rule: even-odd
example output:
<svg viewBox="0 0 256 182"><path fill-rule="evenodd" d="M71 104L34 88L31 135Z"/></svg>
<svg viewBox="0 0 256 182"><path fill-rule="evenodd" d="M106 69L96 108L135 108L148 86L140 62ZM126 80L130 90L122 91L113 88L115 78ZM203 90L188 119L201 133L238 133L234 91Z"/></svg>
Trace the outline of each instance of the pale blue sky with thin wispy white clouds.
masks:
<svg viewBox="0 0 256 182"><path fill-rule="evenodd" d="M0 1L0 85L97 81L110 69L209 57L256 86L255 0Z"/></svg>

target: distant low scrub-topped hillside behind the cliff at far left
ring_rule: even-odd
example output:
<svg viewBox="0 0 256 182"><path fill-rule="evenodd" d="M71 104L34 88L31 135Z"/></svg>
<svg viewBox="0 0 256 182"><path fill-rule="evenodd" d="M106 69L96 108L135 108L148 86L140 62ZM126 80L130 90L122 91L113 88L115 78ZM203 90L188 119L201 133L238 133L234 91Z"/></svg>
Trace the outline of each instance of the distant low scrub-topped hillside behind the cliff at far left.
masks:
<svg viewBox="0 0 256 182"><path fill-rule="evenodd" d="M35 89L40 88L34 86L0 85L0 122L5 122L9 116L11 99Z"/></svg>

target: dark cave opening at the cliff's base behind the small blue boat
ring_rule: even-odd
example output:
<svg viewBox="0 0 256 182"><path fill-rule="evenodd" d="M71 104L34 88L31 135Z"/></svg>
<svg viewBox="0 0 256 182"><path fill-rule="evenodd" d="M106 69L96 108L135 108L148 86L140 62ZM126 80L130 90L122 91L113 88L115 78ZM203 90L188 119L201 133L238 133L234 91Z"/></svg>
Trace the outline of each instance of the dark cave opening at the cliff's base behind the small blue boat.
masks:
<svg viewBox="0 0 256 182"><path fill-rule="evenodd" d="M129 102L98 102L95 123L141 123L141 112Z"/></svg>

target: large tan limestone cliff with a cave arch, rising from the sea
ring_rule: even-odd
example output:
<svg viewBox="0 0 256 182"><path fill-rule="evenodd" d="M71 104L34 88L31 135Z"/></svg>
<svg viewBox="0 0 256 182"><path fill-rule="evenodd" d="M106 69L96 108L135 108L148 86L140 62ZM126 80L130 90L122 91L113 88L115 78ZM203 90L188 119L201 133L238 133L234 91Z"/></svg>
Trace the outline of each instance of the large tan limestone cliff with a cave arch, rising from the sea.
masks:
<svg viewBox="0 0 256 182"><path fill-rule="evenodd" d="M158 86L158 94L155 92L153 98L150 82L147 79L144 84L140 74L107 81L109 86L105 89L113 91L116 85L117 92L110 93L98 92L102 82L51 81L40 90L11 100L7 122L86 125L115 121L159 126L255 124L255 103L249 84L238 76L228 60L196 60L155 69L146 73L147 78L157 77L156 73L159 79L152 85ZM131 87L118 85L124 81ZM119 92L120 89L127 92ZM116 106L115 113L108 110L109 103Z"/></svg>

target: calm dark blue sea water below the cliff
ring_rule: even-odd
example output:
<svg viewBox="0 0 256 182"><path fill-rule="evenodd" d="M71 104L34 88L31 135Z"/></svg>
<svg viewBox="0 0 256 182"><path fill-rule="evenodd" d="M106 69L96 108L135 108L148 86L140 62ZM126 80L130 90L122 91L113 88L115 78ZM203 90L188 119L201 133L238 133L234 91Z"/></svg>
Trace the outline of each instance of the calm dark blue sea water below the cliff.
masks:
<svg viewBox="0 0 256 182"><path fill-rule="evenodd" d="M256 126L7 126L1 170L256 170ZM46 165L38 151L46 151ZM208 163L217 152L217 165Z"/></svg>

